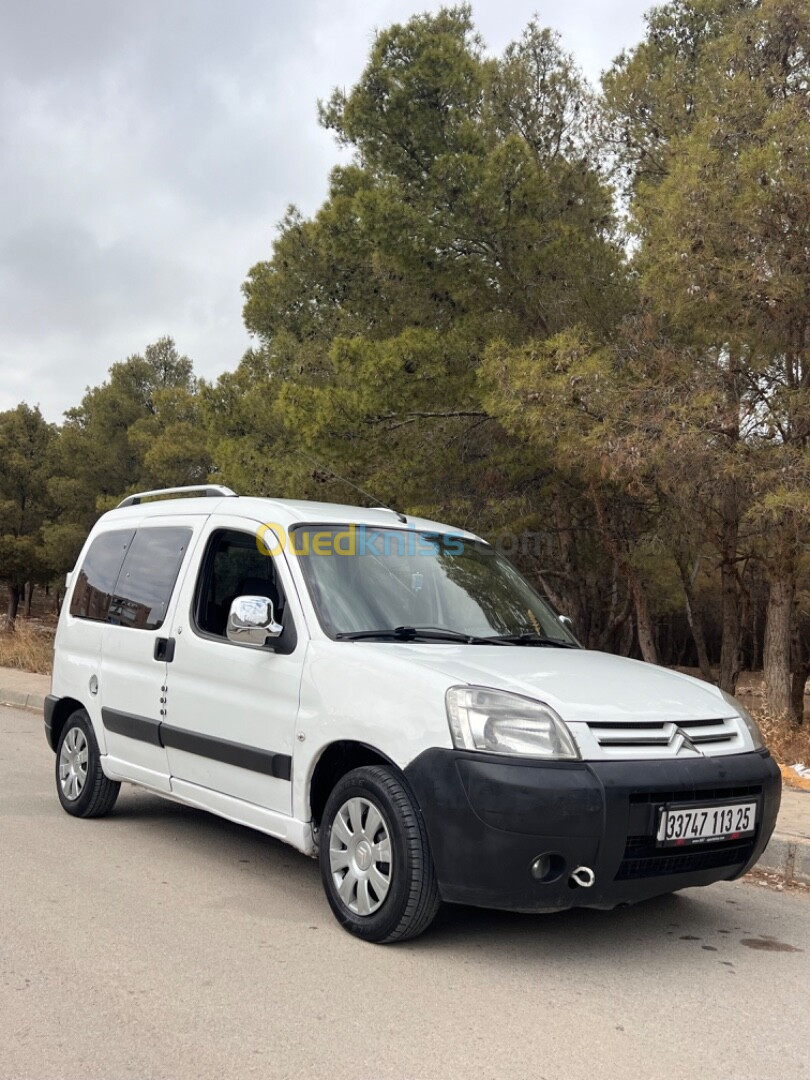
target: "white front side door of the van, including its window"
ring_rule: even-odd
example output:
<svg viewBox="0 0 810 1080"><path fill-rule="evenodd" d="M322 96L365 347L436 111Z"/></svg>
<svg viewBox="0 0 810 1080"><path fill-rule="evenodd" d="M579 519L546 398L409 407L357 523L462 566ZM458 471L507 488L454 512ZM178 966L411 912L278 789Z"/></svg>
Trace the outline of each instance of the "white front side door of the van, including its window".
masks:
<svg viewBox="0 0 810 1080"><path fill-rule="evenodd" d="M177 781L292 814L292 761L306 651L302 616L283 555L259 551L244 518L217 517L202 538L198 573L176 609L174 659L161 728ZM267 646L226 637L237 596L273 602L281 637ZM186 793L188 794L188 793Z"/></svg>

